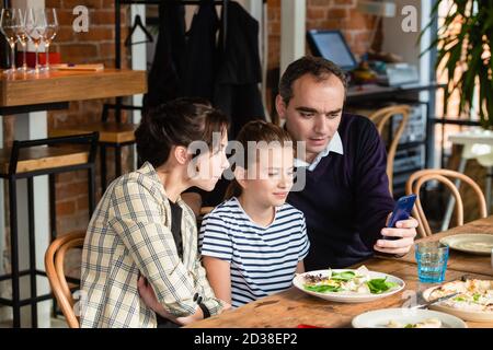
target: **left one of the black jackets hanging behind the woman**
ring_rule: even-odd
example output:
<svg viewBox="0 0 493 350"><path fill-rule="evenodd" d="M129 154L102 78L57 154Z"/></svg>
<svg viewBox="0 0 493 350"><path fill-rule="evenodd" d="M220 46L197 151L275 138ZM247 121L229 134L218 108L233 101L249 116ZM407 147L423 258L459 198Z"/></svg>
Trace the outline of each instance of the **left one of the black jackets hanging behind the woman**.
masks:
<svg viewBox="0 0 493 350"><path fill-rule="evenodd" d="M185 33L185 10L179 1L159 5L159 39L149 72L145 109L176 97L214 96L218 18L214 0L203 0Z"/></svg>

